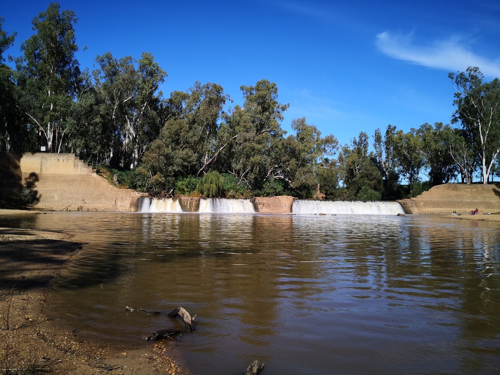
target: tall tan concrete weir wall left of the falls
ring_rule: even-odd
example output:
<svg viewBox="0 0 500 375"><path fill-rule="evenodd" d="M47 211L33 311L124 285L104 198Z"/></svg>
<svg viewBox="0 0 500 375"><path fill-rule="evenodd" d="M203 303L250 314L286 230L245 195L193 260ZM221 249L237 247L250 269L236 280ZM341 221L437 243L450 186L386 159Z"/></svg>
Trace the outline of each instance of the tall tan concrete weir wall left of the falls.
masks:
<svg viewBox="0 0 500 375"><path fill-rule="evenodd" d="M0 158L4 160L6 154L2 153ZM23 185L27 181L34 184L33 189L39 198L34 205L36 208L54 211L137 211L139 193L110 185L74 154L23 153L10 156L8 162L10 169L18 170L17 174L22 175Z"/></svg>

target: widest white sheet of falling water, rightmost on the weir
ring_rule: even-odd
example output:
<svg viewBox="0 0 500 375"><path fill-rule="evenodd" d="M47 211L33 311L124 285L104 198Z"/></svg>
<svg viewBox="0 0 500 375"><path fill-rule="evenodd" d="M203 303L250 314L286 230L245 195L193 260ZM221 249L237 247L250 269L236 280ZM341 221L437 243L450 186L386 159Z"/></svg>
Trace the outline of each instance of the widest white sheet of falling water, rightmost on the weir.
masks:
<svg viewBox="0 0 500 375"><path fill-rule="evenodd" d="M398 202L295 199L293 213L397 215L404 213Z"/></svg>

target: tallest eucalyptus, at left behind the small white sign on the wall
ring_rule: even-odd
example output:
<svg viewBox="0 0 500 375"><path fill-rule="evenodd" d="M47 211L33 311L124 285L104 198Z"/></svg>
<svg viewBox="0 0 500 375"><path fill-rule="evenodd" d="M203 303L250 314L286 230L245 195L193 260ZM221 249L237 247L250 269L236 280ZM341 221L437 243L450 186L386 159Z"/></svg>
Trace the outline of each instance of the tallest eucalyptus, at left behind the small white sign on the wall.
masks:
<svg viewBox="0 0 500 375"><path fill-rule="evenodd" d="M76 93L80 85L78 46L73 25L76 15L50 3L32 20L35 33L21 44L16 59L20 107L50 152L63 151Z"/></svg>

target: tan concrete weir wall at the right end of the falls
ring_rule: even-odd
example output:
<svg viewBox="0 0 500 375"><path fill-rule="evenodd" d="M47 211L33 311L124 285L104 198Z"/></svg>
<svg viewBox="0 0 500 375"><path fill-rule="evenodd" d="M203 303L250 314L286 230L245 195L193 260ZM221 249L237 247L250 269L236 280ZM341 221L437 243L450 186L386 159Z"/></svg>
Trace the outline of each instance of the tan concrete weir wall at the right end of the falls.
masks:
<svg viewBox="0 0 500 375"><path fill-rule="evenodd" d="M465 214L475 208L479 213L499 212L500 189L492 184L445 183L398 202L406 213L423 215Z"/></svg>

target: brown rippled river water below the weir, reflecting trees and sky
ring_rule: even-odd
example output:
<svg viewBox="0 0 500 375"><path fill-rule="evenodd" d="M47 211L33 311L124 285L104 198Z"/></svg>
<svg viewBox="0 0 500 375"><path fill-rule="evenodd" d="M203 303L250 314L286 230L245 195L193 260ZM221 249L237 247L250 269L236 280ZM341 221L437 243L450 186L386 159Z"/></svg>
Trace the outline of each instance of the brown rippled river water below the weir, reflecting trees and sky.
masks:
<svg viewBox="0 0 500 375"><path fill-rule="evenodd" d="M171 341L195 374L500 373L500 226L431 216L57 212L83 249L54 314L106 342Z"/></svg>

